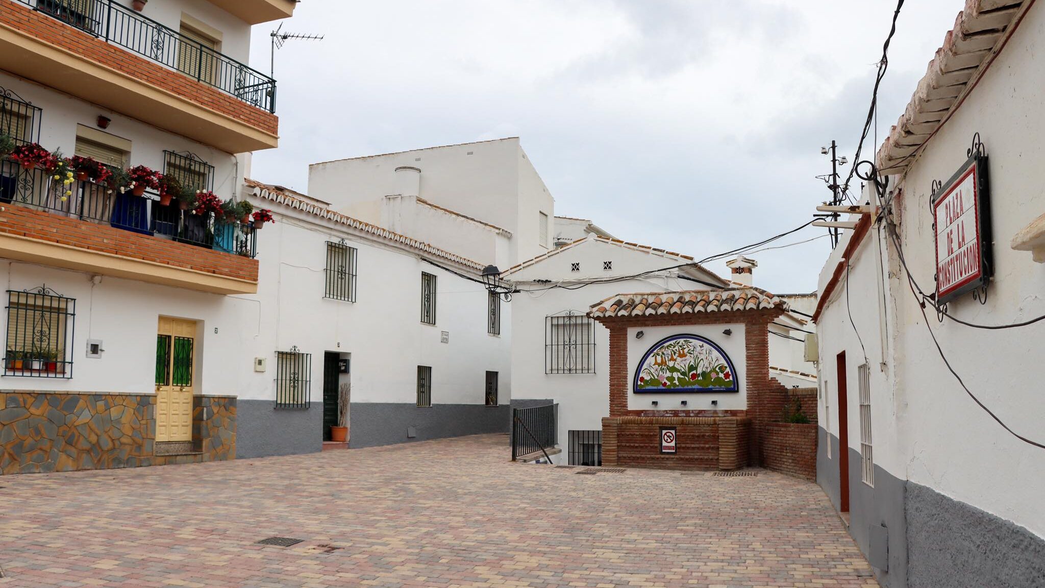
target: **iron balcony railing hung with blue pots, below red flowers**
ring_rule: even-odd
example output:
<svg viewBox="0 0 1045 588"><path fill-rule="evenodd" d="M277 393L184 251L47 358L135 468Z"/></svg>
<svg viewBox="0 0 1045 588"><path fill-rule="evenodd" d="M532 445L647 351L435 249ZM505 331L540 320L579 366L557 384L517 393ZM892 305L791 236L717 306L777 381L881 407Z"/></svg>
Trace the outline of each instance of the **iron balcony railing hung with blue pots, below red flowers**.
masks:
<svg viewBox="0 0 1045 588"><path fill-rule="evenodd" d="M251 224L193 214L177 203L162 206L158 194L119 194L91 180L66 185L43 168L26 169L9 160L0 160L0 202L245 257L257 254L257 229Z"/></svg>

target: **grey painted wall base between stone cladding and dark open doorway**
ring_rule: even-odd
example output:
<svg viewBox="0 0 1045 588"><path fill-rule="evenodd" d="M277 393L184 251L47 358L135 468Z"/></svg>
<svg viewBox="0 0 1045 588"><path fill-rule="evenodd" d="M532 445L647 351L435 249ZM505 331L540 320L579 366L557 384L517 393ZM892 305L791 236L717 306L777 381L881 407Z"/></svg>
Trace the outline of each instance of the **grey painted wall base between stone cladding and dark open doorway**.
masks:
<svg viewBox="0 0 1045 588"><path fill-rule="evenodd" d="M236 402L236 458L323 450L323 403L307 409L275 409L272 401Z"/></svg>

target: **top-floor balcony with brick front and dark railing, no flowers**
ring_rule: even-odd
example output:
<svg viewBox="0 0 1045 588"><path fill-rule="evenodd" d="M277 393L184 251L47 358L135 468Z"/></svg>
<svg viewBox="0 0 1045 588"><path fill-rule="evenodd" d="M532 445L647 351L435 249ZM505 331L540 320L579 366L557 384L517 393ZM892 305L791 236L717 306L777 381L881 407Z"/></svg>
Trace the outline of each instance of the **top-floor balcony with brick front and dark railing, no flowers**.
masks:
<svg viewBox="0 0 1045 588"><path fill-rule="evenodd" d="M277 146L274 80L112 0L0 0L0 69L227 153Z"/></svg>

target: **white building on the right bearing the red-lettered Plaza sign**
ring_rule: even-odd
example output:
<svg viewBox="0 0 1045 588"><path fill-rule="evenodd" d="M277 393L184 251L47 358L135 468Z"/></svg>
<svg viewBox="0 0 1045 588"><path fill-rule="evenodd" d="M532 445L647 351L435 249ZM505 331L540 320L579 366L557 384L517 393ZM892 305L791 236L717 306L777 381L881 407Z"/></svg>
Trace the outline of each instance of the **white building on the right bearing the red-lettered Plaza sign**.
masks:
<svg viewBox="0 0 1045 588"><path fill-rule="evenodd" d="M1045 314L1043 45L1041 5L966 3L820 274L818 481L883 586L1045 585L1041 326L958 322Z"/></svg>

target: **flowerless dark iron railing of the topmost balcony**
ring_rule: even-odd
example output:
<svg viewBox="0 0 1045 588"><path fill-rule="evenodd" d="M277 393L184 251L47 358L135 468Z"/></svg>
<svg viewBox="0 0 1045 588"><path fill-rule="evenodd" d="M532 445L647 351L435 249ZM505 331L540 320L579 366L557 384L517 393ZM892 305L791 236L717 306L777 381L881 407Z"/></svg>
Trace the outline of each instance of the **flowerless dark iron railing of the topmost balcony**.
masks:
<svg viewBox="0 0 1045 588"><path fill-rule="evenodd" d="M16 0L269 112L276 81L113 0Z"/></svg>

